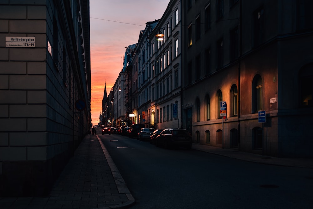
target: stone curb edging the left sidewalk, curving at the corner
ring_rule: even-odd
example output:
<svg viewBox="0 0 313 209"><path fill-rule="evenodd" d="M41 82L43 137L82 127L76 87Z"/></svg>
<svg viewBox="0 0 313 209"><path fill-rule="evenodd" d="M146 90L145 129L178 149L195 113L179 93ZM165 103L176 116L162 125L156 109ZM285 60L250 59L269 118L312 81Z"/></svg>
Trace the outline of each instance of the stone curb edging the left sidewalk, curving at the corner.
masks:
<svg viewBox="0 0 313 209"><path fill-rule="evenodd" d="M110 206L110 207L103 207L103 208L100 208L100 209L127 208L127 207L135 204L135 198L132 196L131 192L127 188L127 185L126 185L123 177L121 176L119 170L115 166L115 163L113 162L113 159L111 158L111 155L109 154L109 152L105 148L103 142L101 141L101 139L99 138L98 135L96 135L96 136L97 136L98 141L99 141L99 143L101 145L101 148L103 150L105 158L108 161L108 164L110 166L110 170L111 170L111 173L113 175L113 178L114 178L117 190L119 191L120 194L126 194L127 199L128 199L128 201L123 203L123 204L116 205L116 206Z"/></svg>

